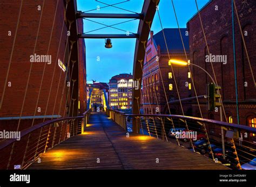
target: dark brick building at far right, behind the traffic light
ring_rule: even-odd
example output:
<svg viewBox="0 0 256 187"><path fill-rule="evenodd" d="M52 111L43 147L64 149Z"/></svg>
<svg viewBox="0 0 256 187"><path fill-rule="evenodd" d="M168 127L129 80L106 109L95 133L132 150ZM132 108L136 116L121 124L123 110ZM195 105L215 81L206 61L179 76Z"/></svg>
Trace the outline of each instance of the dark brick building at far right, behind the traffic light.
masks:
<svg viewBox="0 0 256 187"><path fill-rule="evenodd" d="M235 1L241 23L242 32L246 42L246 47L251 60L254 73L256 71L256 2L254 0ZM208 47L212 55L226 55L226 63L214 63L213 68L216 74L218 85L221 86L221 96L223 99L225 114L228 121L238 123L237 105L235 94L234 78L234 57L233 57L233 34L232 34L232 1L214 0L210 1L200 10L203 26L208 42ZM208 55L204 35L201 30L198 14L187 23L190 35L190 60L192 63L204 68L213 75L211 63L206 62ZM256 121L256 89L252 79L252 74L242 44L241 33L234 13L235 28L235 55L237 63L237 85L238 85L238 109L240 124L255 127ZM192 67L194 82L198 95L206 93L206 84L212 82L204 71L197 67ZM193 93L193 92L192 92ZM198 104L193 105L193 115L200 116ZM220 113L208 112L206 110L206 100L200 100L200 106L204 118L220 120ZM223 119L224 114L223 114Z"/></svg>

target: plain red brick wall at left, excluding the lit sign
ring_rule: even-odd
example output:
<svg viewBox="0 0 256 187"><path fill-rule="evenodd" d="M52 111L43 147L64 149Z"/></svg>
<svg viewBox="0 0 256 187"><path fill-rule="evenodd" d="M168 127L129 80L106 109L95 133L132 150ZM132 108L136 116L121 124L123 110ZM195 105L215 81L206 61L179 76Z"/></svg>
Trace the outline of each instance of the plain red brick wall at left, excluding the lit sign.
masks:
<svg viewBox="0 0 256 187"><path fill-rule="evenodd" d="M4 81L8 70L8 64L10 60L10 54L12 50L12 44L15 38L16 24L18 20L18 13L20 1L15 0L2 0L0 6L0 96L3 95ZM41 11L38 10L38 5L41 5ZM64 20L64 3L59 1L46 0L43 8L43 1L28 0L23 3L21 18L19 20L17 38L14 45L14 52L11 60L11 67L8 76L8 82L11 82L11 87L6 86L2 109L0 110L0 117L19 116L22 109L23 98L25 95L26 83L28 81L29 70L31 66L30 55L35 53L39 55L46 55L49 47L50 33L53 24L53 17L55 15L55 9L57 6L57 16L53 26L53 33L51 37L51 43L48 55L51 55L51 64L46 64L42 90L40 93L38 107L41 107L41 112L36 112L36 116L44 115L46 111L46 103L49 98L48 110L46 115L58 114L60 107L60 98L64 87L65 73L58 67L58 59L67 63L67 54L65 54L65 43L67 40L67 28L66 24L63 27ZM43 10L42 10L43 9ZM39 26L39 18L43 11L41 26L38 33L37 44L36 35ZM8 31L11 31L11 36L8 36ZM60 37L62 35L62 37ZM60 44L60 45L59 45ZM58 51L59 46L59 51ZM66 53L68 53L68 48ZM24 108L22 116L33 116L36 109L36 102L39 93L39 87L43 75L45 63L34 62L32 64L28 91L26 92ZM55 69L53 76L53 70ZM50 92L50 85L53 76L53 84ZM60 84L58 88L58 82L60 77ZM66 91L64 91L63 102L61 105L61 111L64 111ZM57 100L55 103L55 98ZM55 110L53 111L53 106ZM60 112L63 115L63 112ZM37 121L38 122L38 121ZM0 120L1 125L12 124L10 121ZM30 126L30 123L23 124L20 128L22 130L25 127ZM6 126L5 126L6 127ZM7 128L7 127L6 127Z"/></svg>

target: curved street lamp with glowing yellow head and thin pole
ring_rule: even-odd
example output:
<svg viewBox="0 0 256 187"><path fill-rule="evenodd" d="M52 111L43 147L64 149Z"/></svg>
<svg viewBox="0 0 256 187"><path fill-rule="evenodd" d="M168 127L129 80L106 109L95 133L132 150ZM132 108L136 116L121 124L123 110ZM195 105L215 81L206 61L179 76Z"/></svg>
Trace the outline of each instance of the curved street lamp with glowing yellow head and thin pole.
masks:
<svg viewBox="0 0 256 187"><path fill-rule="evenodd" d="M217 86L217 84L215 83L213 77L208 73L208 71L206 71L204 68L198 66L197 64L191 63L190 60L188 60L187 62L185 61L180 61L180 60L175 60L175 59L171 59L169 60L169 65L171 65L171 63L173 64L178 64L181 66L196 66L198 68L200 68L201 70L203 70L212 80L213 84L215 86ZM217 90L217 93L220 94L219 90ZM220 98L219 98L219 102L220 102ZM220 106L220 121L223 121L223 116L222 116L222 102L221 102L221 106ZM223 159L225 159L225 145L224 145L224 131L223 131L223 127L221 127L221 142L222 142L222 148L223 148Z"/></svg>

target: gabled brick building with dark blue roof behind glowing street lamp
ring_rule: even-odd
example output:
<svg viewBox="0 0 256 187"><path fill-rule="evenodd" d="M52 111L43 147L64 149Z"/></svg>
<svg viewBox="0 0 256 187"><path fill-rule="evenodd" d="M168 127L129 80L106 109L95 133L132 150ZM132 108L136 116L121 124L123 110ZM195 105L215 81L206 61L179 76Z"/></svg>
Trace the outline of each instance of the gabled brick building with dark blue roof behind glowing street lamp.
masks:
<svg viewBox="0 0 256 187"><path fill-rule="evenodd" d="M181 34L188 55L188 35L186 35L186 31L186 28L181 28ZM170 58L186 61L178 28L165 28L164 33ZM169 66L169 55L163 32L160 31L157 34L153 34L153 31L151 31L150 39L147 41L146 46L142 80L143 110L146 114L169 113L166 98L168 102L178 100L178 92L180 99L191 97L191 78L188 74L188 68L175 64L172 66L173 71L171 66ZM178 92L174 76L176 78ZM158 106L160 108L159 110L157 110ZM190 103L183 103L183 110L185 115L191 116ZM182 114L179 103L170 104L170 111L171 114Z"/></svg>

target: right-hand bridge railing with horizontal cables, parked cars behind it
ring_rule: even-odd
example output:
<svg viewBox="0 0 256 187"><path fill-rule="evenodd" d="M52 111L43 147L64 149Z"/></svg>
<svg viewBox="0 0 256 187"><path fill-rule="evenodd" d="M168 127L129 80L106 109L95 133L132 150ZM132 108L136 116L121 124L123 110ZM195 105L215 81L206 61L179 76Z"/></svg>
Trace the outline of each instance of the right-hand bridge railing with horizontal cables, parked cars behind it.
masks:
<svg viewBox="0 0 256 187"><path fill-rule="evenodd" d="M114 114L111 119L118 125L125 123L128 132L177 143L232 169L241 169L248 162L256 169L256 159L252 161L256 157L256 128L179 115L125 114L114 110L109 114Z"/></svg>

